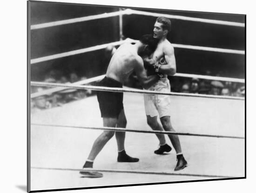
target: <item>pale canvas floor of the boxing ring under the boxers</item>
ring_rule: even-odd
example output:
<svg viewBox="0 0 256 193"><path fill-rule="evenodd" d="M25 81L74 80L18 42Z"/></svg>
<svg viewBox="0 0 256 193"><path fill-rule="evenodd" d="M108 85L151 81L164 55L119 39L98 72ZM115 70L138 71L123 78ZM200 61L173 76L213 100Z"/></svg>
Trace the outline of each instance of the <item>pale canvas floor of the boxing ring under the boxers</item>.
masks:
<svg viewBox="0 0 256 193"><path fill-rule="evenodd" d="M245 102L243 100L207 99L171 96L171 121L177 132L244 136ZM151 130L146 122L141 94L124 93L127 128ZM31 123L74 126L102 126L96 96L31 114ZM31 166L75 168L83 166L94 140L102 131L93 129L31 126ZM165 135L169 145L168 136ZM95 169L142 170L244 177L245 140L180 136L188 167L174 172L175 150L156 155L158 140L152 133L126 133L126 152L140 158L137 163L118 163L113 137L94 161ZM49 190L94 186L115 186L206 180L209 177L103 173L102 178L81 178L76 171L31 169L31 190Z"/></svg>

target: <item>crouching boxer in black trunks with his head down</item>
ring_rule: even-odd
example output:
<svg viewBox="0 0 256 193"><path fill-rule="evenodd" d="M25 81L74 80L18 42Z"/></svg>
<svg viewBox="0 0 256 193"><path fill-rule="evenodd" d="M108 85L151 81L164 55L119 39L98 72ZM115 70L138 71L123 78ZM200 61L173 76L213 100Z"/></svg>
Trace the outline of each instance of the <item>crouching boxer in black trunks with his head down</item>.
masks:
<svg viewBox="0 0 256 193"><path fill-rule="evenodd" d="M112 56L106 77L99 82L102 87L122 87L124 81L128 76L135 72L140 84L143 88L149 88L157 80L159 76L153 74L147 76L143 66L142 58L150 55L155 51L158 40L151 35L143 35L136 44L125 43L122 44ZM103 118L103 126L106 127L121 127L125 128L127 124L126 116L123 109L123 93L117 92L97 92L97 99L99 102L101 117ZM118 162L138 162L138 158L130 157L124 148L125 132L104 131L94 141L91 152L86 160L83 168L92 168L94 159L100 153L101 149L115 134L118 148ZM94 175L95 173L80 172L88 177L102 177L102 175Z"/></svg>

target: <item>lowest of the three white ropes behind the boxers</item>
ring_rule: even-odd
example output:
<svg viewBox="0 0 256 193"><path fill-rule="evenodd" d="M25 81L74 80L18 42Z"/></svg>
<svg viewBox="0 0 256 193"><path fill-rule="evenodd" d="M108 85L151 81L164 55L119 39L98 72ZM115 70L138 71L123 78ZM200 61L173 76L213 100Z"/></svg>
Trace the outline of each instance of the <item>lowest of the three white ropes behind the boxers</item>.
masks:
<svg viewBox="0 0 256 193"><path fill-rule="evenodd" d="M98 80L103 79L105 75L106 74L96 76L96 77L93 77L93 78L90 78L90 79L87 79L87 80L77 81L77 82L72 83L72 85L84 85L84 84L88 84L88 83L91 83L91 82L94 82L94 81L98 81ZM216 76L205 76L205 75L198 75L198 74L175 73L174 76L244 83L244 79L216 77ZM66 90L66 89L67 88L63 88L63 87L49 88L49 89L46 89L46 90L43 90L43 91L32 93L30 95L30 97L31 97L31 99L33 99L35 97L39 97L39 96L42 96L42 95L49 95L49 94L56 93L56 92Z"/></svg>

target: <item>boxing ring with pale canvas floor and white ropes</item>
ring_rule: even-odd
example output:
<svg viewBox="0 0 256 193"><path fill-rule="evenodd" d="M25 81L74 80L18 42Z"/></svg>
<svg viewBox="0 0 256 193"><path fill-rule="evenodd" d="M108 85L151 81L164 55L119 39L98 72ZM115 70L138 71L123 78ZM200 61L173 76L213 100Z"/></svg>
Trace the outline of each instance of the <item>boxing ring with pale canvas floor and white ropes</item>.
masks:
<svg viewBox="0 0 256 193"><path fill-rule="evenodd" d="M118 16L121 37L122 15L125 14L146 15L149 17L164 16L174 20L245 27L244 23L125 9L113 13L32 25L31 30ZM126 40L94 47L34 58L30 60L30 65L40 65L42 61L136 41L127 38ZM243 50L181 44L172 45L182 49L245 54ZM244 97L195 93L161 93L127 87L121 89L86 85L101 80L104 76L102 74L72 84L30 82L31 86L52 87L37 93L31 93L31 99L70 88L123 92L124 110L128 120L127 128L125 129L102 127L96 96L90 96L67 103L61 107L54 107L31 114L31 129L29 132L31 140L31 151L29 152L31 156L31 190L233 179L245 176ZM244 79L198 74L176 73L175 76L245 83ZM171 120L177 132L160 132L150 129L147 125L144 110L143 93L170 95L172 104ZM74 124L70 124L70 122ZM126 151L132 156L140 158L140 161L138 163L118 163L116 161L116 142L115 140L110 140L94 161L94 168L82 169L94 140L102 130L126 131ZM155 133L179 135L182 152L186 156L188 167L182 171L173 171L176 164L175 150L164 155L153 153L158 144ZM230 164L231 162L232 164ZM79 171L99 171L104 176L97 179L83 178Z"/></svg>

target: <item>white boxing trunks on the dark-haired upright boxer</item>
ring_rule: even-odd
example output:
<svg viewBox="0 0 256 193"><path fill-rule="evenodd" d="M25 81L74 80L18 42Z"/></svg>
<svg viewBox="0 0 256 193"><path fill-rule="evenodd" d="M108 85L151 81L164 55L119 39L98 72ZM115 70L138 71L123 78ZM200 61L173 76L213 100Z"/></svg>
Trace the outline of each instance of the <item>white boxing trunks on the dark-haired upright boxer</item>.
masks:
<svg viewBox="0 0 256 193"><path fill-rule="evenodd" d="M158 92L170 92L170 82L167 77L158 80L148 90ZM155 117L159 114L159 117L170 116L170 96L163 94L144 94L144 104L146 115Z"/></svg>

